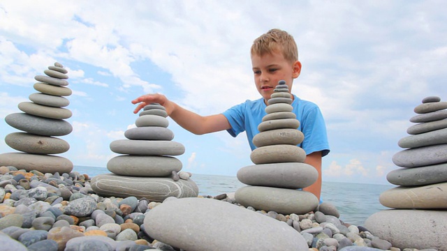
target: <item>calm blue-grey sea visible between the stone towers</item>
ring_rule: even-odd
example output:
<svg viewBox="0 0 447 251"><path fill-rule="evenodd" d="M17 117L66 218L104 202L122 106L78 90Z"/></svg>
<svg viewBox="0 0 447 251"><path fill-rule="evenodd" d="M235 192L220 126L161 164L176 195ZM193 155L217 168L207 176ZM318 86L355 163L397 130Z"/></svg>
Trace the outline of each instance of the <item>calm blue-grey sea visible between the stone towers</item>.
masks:
<svg viewBox="0 0 447 251"><path fill-rule="evenodd" d="M74 166L73 171L88 174L90 178L98 174L109 174L105 167ZM235 176L212 174L193 174L191 179L199 188L199 195L221 195L235 192L244 186ZM323 181L321 199L337 207L340 220L351 225L362 226L373 213L386 210L379 203L381 192L395 187L394 185L376 185L364 183L340 183Z"/></svg>

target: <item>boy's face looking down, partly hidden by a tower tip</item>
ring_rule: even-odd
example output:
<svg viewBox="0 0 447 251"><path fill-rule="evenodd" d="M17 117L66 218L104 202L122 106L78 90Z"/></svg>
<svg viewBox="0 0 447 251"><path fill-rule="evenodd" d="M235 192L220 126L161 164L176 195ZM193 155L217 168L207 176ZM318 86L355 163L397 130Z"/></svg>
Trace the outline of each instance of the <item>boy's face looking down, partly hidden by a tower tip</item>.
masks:
<svg viewBox="0 0 447 251"><path fill-rule="evenodd" d="M279 80L285 80L289 92L292 91L293 79L297 78L301 71L300 61L291 63L284 59L280 52L263 56L251 55L251 66L256 89L263 96L265 103L270 99Z"/></svg>

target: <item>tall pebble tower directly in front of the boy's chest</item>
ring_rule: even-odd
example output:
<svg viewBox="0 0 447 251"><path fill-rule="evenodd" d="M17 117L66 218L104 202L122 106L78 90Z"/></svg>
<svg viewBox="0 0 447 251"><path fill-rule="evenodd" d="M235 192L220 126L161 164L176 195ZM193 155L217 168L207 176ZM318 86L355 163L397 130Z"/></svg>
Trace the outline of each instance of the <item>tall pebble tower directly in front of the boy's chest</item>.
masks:
<svg viewBox="0 0 447 251"><path fill-rule="evenodd" d="M237 179L247 185L235 192L243 206L283 214L309 213L318 206L315 195L298 190L312 185L318 172L304 162L306 153L297 146L304 135L297 130L300 121L292 112L292 101L286 82L279 81L253 138L257 149L250 158L255 165L237 172Z"/></svg>

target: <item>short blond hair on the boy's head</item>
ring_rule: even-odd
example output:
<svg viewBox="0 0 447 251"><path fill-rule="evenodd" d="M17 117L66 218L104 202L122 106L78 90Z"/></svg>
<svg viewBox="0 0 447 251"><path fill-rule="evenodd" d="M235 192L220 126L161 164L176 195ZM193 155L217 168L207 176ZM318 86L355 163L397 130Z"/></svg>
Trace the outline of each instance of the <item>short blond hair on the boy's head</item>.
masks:
<svg viewBox="0 0 447 251"><path fill-rule="evenodd" d="M251 45L251 55L263 56L272 52L282 52L284 59L294 63L298 60L298 47L295 39L286 31L271 29L267 33L256 38Z"/></svg>

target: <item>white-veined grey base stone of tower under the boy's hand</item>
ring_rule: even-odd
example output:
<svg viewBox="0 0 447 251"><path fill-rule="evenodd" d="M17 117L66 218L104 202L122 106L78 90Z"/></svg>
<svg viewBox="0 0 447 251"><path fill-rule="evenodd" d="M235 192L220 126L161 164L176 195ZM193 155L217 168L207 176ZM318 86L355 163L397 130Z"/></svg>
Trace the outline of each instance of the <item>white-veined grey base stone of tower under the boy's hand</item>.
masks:
<svg viewBox="0 0 447 251"><path fill-rule="evenodd" d="M91 178L91 189L101 196L126 198L145 197L149 201L163 201L168 197L197 197L198 187L191 178L187 181L172 178L118 176L100 174Z"/></svg>

